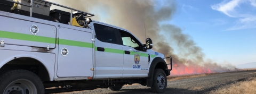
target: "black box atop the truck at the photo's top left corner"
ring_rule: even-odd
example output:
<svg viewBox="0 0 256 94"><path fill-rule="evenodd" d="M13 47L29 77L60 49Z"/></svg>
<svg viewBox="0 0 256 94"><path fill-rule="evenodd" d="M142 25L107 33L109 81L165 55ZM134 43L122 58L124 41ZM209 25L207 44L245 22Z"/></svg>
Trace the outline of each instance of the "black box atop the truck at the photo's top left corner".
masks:
<svg viewBox="0 0 256 94"><path fill-rule="evenodd" d="M11 12L12 2L0 0L0 11Z"/></svg>

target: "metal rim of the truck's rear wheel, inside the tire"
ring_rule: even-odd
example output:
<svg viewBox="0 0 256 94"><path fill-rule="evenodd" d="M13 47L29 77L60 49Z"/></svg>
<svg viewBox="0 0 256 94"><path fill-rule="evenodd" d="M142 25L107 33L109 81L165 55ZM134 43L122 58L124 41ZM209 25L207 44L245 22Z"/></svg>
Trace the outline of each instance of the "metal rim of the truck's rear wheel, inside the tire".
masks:
<svg viewBox="0 0 256 94"><path fill-rule="evenodd" d="M4 94L32 94L37 93L36 86L33 82L26 79L18 79L11 82L4 90Z"/></svg>

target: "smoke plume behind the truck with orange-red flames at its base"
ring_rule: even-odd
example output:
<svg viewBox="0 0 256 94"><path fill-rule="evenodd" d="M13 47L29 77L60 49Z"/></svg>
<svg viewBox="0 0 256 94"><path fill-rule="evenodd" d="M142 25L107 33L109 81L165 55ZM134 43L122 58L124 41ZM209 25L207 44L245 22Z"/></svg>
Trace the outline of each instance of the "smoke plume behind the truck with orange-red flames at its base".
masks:
<svg viewBox="0 0 256 94"><path fill-rule="evenodd" d="M235 68L232 65L226 67L218 65L211 59L205 61L202 48L196 46L190 36L183 34L182 30L173 24L160 24L163 21L172 20L177 5L173 0L49 1L85 12L88 10L89 13L95 14L92 17L93 20L127 29L143 43L145 43L144 27L146 26L146 37L153 39L154 50L163 53L165 56L171 56L173 63L177 64L177 66L174 66L172 73L175 71L183 72L177 75L226 72ZM66 11L69 12L69 10ZM160 32L164 35L161 35ZM178 49L174 50L173 46L178 47ZM179 52L179 55L174 54L174 52Z"/></svg>

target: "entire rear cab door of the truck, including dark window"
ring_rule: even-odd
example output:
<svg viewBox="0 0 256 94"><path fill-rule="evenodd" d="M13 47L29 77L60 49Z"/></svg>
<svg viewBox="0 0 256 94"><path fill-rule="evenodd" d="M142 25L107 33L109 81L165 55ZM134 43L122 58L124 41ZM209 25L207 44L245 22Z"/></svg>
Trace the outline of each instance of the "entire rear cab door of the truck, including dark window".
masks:
<svg viewBox="0 0 256 94"><path fill-rule="evenodd" d="M124 51L117 40L116 29L94 23L95 79L122 78Z"/></svg>

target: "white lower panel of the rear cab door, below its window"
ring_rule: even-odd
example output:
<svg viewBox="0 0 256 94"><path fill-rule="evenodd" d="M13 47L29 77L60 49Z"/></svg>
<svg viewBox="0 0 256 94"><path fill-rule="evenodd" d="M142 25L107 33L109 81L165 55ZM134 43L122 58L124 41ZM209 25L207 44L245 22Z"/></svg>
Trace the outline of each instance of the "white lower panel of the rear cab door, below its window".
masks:
<svg viewBox="0 0 256 94"><path fill-rule="evenodd" d="M95 79L122 78L123 76L123 54L110 53L108 50L123 50L121 45L101 42L95 38L95 47L105 48L105 52L97 51L95 48Z"/></svg>

